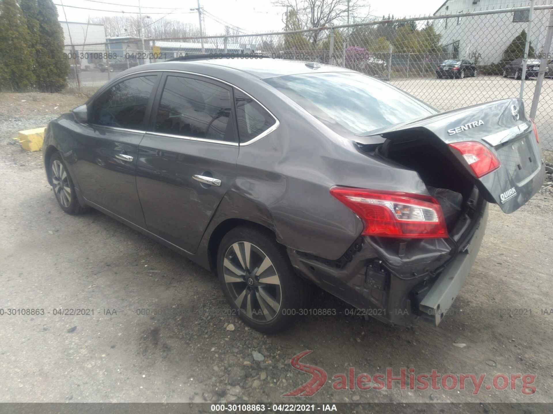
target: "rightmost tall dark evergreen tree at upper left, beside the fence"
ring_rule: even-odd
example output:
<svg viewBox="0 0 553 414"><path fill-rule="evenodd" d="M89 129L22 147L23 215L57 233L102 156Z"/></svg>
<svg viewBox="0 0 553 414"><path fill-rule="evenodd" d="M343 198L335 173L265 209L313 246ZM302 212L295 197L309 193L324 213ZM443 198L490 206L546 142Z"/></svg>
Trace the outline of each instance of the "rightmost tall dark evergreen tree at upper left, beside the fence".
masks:
<svg viewBox="0 0 553 414"><path fill-rule="evenodd" d="M39 46L36 50L36 83L57 92L66 84L69 62L64 58L64 32L52 0L38 0Z"/></svg>

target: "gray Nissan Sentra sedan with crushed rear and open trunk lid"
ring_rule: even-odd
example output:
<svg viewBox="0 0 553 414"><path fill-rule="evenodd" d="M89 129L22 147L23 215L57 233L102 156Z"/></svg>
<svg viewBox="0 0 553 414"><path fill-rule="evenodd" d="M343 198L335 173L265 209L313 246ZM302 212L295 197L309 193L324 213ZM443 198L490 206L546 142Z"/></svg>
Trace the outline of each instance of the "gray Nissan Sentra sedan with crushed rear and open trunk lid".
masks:
<svg viewBox="0 0 553 414"><path fill-rule="evenodd" d="M345 68L273 59L132 68L51 121L49 183L215 270L259 331L314 285L379 320L439 324L469 273L487 205L525 204L545 174L519 99L440 113Z"/></svg>

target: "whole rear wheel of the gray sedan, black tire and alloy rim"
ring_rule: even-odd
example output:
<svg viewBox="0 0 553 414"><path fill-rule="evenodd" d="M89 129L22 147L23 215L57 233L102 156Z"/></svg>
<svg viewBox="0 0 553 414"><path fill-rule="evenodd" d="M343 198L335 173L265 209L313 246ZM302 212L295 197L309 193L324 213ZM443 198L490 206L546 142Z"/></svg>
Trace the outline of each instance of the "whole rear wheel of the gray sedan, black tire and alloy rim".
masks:
<svg viewBox="0 0 553 414"><path fill-rule="evenodd" d="M303 282L269 232L229 231L217 251L217 274L232 310L255 330L281 331L299 315Z"/></svg>

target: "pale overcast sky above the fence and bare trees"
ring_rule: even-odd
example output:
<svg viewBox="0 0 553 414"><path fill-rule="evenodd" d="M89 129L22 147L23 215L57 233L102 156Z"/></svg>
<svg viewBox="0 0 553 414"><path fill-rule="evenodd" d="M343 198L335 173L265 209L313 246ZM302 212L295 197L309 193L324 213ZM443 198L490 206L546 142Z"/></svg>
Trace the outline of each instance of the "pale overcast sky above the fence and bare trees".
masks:
<svg viewBox="0 0 553 414"><path fill-rule="evenodd" d="M109 4L109 0L98 0L96 2L87 0L65 0L65 6L77 6L90 9L113 10L113 12L101 12L97 10L77 9L65 7L67 20L69 22L84 22L88 17L98 16L116 16L122 15L122 10L127 15L136 16L137 14L128 14L129 12L138 13L138 0L113 0L117 4ZM284 7L273 6L273 0L200 0L201 6L205 9L205 29L207 35L221 34L224 31L225 24L230 23L242 29L243 33L263 33L267 31L279 31L283 29L282 23ZM419 15L429 15L441 6L443 0L392 0L392 1L374 1L368 2L370 8L367 13L375 16L394 14L395 17L414 17ZM54 0L55 4L61 4L60 0ZM108 3L108 4L106 4ZM190 8L197 7L197 0L165 0L163 2L154 0L141 0L142 13L149 15L151 22L160 18L182 20L186 23L198 24L197 12L191 12ZM155 8L164 7L168 9ZM175 9L173 9L175 8ZM60 20L65 20L64 10L58 6ZM363 16L358 16L357 19ZM353 17L351 18L353 23Z"/></svg>

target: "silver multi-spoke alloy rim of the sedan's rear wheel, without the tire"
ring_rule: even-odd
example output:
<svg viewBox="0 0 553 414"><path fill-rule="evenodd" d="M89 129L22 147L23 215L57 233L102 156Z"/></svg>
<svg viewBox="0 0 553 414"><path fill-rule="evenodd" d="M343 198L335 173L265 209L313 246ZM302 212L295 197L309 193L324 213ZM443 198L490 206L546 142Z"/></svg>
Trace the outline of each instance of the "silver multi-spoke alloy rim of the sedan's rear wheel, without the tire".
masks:
<svg viewBox="0 0 553 414"><path fill-rule="evenodd" d="M268 322L280 310L282 291L278 273L267 254L246 241L226 251L223 276L239 311L256 322Z"/></svg>

